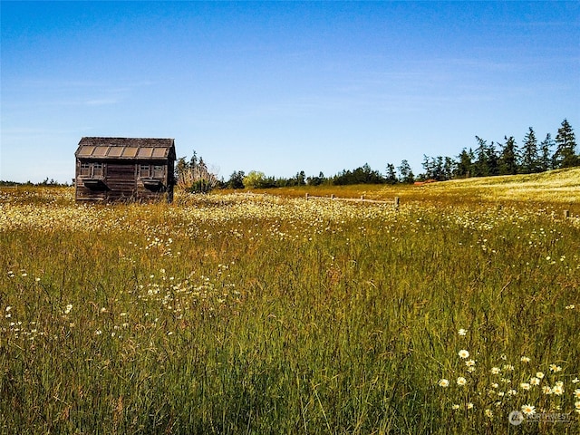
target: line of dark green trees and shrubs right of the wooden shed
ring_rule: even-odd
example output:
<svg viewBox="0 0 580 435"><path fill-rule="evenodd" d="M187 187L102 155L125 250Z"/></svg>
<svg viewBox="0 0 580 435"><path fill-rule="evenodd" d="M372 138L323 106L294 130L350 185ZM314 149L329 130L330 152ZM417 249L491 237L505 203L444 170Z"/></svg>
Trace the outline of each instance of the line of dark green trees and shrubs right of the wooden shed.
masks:
<svg viewBox="0 0 580 435"><path fill-rule="evenodd" d="M178 186L191 192L208 192L211 189L271 189L295 186L350 185L350 184L410 184L415 181L462 179L469 177L492 177L543 172L550 169L580 166L580 155L576 154L575 134L567 120L562 121L552 139L550 133L538 141L532 127L527 131L519 146L513 136L504 140L488 142L476 136L475 148L464 148L457 157L424 156L423 172L413 174L408 160L402 160L398 167L387 163L384 173L372 169L368 164L356 169L343 169L331 177L323 172L307 177L303 171L291 178L268 177L264 172L252 170L234 171L229 179L218 179L193 151L188 161L180 158L176 166Z"/></svg>

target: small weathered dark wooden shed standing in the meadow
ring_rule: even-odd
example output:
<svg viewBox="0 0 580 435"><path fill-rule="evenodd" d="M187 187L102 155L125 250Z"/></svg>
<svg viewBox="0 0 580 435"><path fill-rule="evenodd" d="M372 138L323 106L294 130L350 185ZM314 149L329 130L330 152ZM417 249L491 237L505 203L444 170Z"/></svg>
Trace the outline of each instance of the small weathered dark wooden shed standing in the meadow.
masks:
<svg viewBox="0 0 580 435"><path fill-rule="evenodd" d="M175 141L82 138L76 157L76 200L173 200Z"/></svg>

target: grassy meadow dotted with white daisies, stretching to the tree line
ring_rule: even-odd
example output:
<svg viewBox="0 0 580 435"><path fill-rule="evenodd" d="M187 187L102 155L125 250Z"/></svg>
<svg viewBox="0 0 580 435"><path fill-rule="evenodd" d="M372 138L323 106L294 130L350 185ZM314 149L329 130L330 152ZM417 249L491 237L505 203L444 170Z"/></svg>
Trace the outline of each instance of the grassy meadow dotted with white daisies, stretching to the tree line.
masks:
<svg viewBox="0 0 580 435"><path fill-rule="evenodd" d="M578 433L579 179L0 189L0 433Z"/></svg>

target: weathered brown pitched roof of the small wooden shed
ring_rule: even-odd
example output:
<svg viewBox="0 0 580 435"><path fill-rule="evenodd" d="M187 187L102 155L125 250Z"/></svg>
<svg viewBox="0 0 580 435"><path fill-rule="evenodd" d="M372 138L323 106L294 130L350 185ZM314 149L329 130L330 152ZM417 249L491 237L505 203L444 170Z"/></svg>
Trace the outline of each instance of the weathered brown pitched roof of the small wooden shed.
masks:
<svg viewBox="0 0 580 435"><path fill-rule="evenodd" d="M80 159L175 160L173 139L82 138L74 153Z"/></svg>

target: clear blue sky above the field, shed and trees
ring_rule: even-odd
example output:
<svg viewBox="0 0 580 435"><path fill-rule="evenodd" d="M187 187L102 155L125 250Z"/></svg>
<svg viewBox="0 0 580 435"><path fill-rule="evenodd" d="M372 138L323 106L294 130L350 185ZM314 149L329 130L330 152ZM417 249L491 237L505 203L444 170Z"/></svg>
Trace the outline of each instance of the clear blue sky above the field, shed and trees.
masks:
<svg viewBox="0 0 580 435"><path fill-rule="evenodd" d="M0 179L82 136L174 138L229 179L384 172L567 120L580 2L1 2Z"/></svg>

